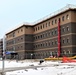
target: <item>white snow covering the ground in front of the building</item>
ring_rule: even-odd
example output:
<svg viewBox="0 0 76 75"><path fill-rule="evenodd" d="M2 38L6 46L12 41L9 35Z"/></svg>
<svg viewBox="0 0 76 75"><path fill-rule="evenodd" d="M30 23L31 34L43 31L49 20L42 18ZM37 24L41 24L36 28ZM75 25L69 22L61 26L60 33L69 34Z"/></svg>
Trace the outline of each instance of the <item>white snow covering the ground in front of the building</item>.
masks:
<svg viewBox="0 0 76 75"><path fill-rule="evenodd" d="M41 65L49 65L47 67L40 67L35 69L23 69L23 70L17 70L12 72L6 72L6 75L76 75L76 63L72 63L72 65L69 65L70 63L67 63L66 65L54 65L51 66L51 64L60 64L60 62L52 62L52 61L45 61ZM75 65L74 65L75 64ZM39 65L39 62L34 61L5 61L5 68L10 67L24 67ZM0 69L2 68L2 61L0 61Z"/></svg>

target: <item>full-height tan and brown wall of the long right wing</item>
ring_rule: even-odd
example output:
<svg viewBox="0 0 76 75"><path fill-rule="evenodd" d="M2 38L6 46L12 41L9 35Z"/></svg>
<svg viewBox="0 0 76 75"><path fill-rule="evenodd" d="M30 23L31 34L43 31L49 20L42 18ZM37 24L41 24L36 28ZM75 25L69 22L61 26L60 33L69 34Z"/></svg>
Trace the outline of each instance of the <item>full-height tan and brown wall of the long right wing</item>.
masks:
<svg viewBox="0 0 76 75"><path fill-rule="evenodd" d="M67 18L68 15L68 18ZM64 20L62 17L64 16ZM45 58L52 55L57 56L58 51L58 19L60 18L61 25L61 56L73 56L75 51L73 43L76 36L76 11L68 11L56 17L53 17L45 22L37 24L35 28L35 43L34 50L36 58ZM55 23L55 20L57 22ZM52 24L53 21L53 24ZM74 44L76 46L76 44ZM74 53L74 52L75 53ZM38 54L37 54L38 53ZM40 57L38 55L41 55Z"/></svg>

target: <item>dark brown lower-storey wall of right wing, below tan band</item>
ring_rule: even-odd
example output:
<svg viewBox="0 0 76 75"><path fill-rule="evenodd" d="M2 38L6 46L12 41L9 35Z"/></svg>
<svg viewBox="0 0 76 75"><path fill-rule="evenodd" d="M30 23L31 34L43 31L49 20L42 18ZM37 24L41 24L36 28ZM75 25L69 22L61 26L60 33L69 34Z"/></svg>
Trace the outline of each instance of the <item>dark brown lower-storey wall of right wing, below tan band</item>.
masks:
<svg viewBox="0 0 76 75"><path fill-rule="evenodd" d="M69 27L69 30L67 30L67 26ZM65 31L63 31L63 27L65 28ZM63 51L65 51L63 50L63 48L67 48L67 47L70 47L70 45L72 45L72 33L71 33L72 30L70 27L71 27L70 23L61 26L61 51L62 51L61 54L63 53ZM44 54L47 53L46 54L47 57L48 57L48 54L50 55L51 53L56 54L57 56L58 32L55 30L57 30L57 27L45 32L38 33L34 36L35 37L35 43L34 43L35 51L38 51L39 53L41 51L44 51ZM38 36L40 38L37 38ZM41 54L43 53L40 53L40 55Z"/></svg>

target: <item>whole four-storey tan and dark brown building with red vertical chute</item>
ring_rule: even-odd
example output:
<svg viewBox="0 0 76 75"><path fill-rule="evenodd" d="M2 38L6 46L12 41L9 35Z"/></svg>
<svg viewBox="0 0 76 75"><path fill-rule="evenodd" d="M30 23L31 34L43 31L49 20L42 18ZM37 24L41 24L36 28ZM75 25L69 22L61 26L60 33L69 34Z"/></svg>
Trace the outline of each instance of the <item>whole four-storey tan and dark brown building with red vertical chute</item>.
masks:
<svg viewBox="0 0 76 75"><path fill-rule="evenodd" d="M76 6L24 23L6 33L7 58L32 59L76 55Z"/></svg>

